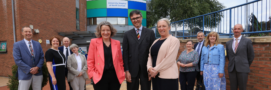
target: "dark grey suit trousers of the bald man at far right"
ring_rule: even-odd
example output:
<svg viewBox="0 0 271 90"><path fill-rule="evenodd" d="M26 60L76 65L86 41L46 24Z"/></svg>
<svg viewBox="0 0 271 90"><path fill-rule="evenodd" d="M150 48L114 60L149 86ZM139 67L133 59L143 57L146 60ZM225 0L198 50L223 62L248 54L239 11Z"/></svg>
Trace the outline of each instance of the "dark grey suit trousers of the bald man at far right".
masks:
<svg viewBox="0 0 271 90"><path fill-rule="evenodd" d="M249 73L237 72L235 67L229 72L231 90L246 90Z"/></svg>

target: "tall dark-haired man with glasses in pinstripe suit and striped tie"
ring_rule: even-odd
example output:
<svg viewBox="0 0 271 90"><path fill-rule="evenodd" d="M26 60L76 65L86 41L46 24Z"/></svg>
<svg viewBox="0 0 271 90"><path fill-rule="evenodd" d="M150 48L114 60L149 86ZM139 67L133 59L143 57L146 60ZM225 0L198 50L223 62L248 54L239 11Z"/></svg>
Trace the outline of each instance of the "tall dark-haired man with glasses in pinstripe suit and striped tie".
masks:
<svg viewBox="0 0 271 90"><path fill-rule="evenodd" d="M122 42L127 90L138 90L139 84L141 90L150 90L151 77L147 72L147 61L155 40L154 31L141 25L143 17L139 10L131 11L130 19L134 28L124 33Z"/></svg>

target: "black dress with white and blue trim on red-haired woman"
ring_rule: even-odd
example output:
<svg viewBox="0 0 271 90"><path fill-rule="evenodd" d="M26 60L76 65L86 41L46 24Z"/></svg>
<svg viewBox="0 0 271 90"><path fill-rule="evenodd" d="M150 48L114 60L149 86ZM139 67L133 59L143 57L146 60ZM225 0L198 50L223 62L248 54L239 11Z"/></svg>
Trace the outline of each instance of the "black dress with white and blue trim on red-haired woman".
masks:
<svg viewBox="0 0 271 90"><path fill-rule="evenodd" d="M46 62L52 62L52 68L54 76L56 77L56 85L52 84L52 77L48 73L49 84L51 90L66 90L66 81L65 81L65 62L66 58L63 52L57 51L55 49L48 49L44 55Z"/></svg>

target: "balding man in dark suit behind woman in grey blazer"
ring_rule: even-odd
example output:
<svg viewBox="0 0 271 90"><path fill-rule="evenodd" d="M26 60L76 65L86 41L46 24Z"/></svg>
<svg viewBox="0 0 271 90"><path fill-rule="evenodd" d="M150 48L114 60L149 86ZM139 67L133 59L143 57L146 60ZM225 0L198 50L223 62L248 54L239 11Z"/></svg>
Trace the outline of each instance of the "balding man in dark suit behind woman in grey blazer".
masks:
<svg viewBox="0 0 271 90"><path fill-rule="evenodd" d="M62 51L63 54L65 55L66 57L66 62L67 62L67 59L68 59L68 56L73 54L73 52L70 50L70 39L68 37L64 37L63 40L62 40L64 46L60 46L58 47L59 51ZM68 79L68 68L67 68L67 64L65 62L65 76L66 78ZM70 87L70 90L72 90L72 86L70 85L70 82L68 82L69 84L69 87Z"/></svg>

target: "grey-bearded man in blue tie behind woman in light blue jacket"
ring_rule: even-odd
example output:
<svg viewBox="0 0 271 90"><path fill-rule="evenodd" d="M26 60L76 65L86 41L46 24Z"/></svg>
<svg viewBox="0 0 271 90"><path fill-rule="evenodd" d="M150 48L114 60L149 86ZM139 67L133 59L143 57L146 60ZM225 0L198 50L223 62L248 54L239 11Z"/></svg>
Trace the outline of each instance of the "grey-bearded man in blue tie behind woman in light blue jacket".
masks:
<svg viewBox="0 0 271 90"><path fill-rule="evenodd" d="M204 33L203 32L198 32L197 33L197 39L198 39L199 42L194 45L194 49L199 54L199 63L198 63L198 66L199 66L199 69L200 69L200 67L201 67L201 51L202 51L201 49L204 46L204 42L205 42L204 41ZM197 78L197 81L199 81L199 79L201 78L200 72L198 72L196 78Z"/></svg>

